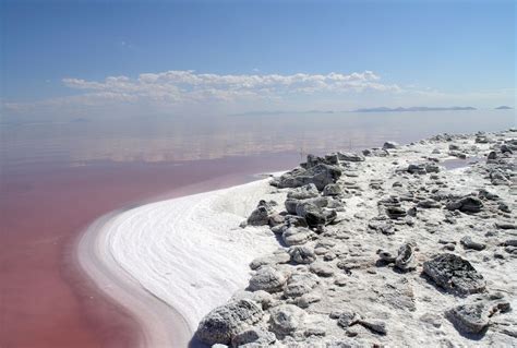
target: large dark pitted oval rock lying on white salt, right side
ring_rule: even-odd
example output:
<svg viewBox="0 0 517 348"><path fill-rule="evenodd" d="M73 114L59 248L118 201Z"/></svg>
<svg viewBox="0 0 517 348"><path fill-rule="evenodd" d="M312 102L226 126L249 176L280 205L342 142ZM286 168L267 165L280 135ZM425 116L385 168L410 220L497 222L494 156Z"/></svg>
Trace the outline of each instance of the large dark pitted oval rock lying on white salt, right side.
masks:
<svg viewBox="0 0 517 348"><path fill-rule="evenodd" d="M465 259L443 253L423 263L423 272L448 292L469 295L484 291L485 280Z"/></svg>

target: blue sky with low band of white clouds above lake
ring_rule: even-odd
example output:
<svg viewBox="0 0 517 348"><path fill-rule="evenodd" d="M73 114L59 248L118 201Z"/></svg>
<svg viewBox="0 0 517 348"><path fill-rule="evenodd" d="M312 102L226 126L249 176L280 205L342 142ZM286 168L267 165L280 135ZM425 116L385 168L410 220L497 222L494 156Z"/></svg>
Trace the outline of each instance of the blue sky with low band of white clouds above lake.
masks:
<svg viewBox="0 0 517 348"><path fill-rule="evenodd" d="M3 115L515 106L515 1L0 1Z"/></svg>

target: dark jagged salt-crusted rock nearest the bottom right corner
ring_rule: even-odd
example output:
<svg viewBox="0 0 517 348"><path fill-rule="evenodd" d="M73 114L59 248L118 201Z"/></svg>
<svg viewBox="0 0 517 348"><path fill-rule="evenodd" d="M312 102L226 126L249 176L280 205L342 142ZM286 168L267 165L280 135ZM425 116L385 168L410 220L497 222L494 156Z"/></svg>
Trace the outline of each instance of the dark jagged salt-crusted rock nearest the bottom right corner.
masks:
<svg viewBox="0 0 517 348"><path fill-rule="evenodd" d="M490 324L490 317L497 312L507 312L506 301L478 301L457 305L446 312L446 317L464 334L481 334Z"/></svg>

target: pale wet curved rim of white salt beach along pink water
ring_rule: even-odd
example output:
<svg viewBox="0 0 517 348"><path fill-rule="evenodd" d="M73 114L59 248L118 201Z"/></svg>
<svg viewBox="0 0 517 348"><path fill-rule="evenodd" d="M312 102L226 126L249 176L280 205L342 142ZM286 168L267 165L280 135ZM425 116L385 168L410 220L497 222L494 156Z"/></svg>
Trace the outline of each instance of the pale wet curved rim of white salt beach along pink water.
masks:
<svg viewBox="0 0 517 348"><path fill-rule="evenodd" d="M76 268L83 273L88 286L95 287L113 304L129 312L131 319L139 324L141 331L139 347L197 347L200 344L192 340L195 328L189 326L181 313L146 290L113 260L107 241L107 233L113 220L125 212L149 204L229 190L265 180L264 178L269 176L269 173L247 175L239 176L236 180L236 176L229 175L189 184L109 212L79 233L73 243L71 259L77 264Z"/></svg>

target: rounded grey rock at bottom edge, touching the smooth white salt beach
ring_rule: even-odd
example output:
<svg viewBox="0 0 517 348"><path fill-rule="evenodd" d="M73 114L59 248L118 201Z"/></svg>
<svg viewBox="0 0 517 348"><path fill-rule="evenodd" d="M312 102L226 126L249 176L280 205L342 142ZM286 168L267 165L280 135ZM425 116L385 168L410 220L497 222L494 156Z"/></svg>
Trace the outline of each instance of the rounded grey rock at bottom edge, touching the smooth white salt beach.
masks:
<svg viewBox="0 0 517 348"><path fill-rule="evenodd" d="M255 302L251 300L232 301L206 314L195 335L207 345L228 345L237 334L251 327L263 316L264 312Z"/></svg>

